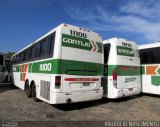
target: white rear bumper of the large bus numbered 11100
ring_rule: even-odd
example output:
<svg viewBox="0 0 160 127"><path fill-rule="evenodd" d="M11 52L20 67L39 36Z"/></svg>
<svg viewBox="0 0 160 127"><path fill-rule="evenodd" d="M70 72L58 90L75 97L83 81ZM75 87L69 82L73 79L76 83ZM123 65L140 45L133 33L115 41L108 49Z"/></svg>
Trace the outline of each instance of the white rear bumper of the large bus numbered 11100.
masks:
<svg viewBox="0 0 160 127"><path fill-rule="evenodd" d="M91 101L101 99L103 96L103 88L94 91L85 92L65 92L51 93L50 104L75 103L83 101Z"/></svg>

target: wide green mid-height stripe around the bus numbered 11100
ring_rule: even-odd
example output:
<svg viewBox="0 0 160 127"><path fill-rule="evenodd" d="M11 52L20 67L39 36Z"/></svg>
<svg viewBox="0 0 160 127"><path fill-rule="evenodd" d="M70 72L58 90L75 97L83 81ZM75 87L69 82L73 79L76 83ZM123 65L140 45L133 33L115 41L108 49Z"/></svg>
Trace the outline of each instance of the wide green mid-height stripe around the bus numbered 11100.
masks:
<svg viewBox="0 0 160 127"><path fill-rule="evenodd" d="M29 63L28 72L42 74L96 76L103 74L103 64L52 59L41 62Z"/></svg>

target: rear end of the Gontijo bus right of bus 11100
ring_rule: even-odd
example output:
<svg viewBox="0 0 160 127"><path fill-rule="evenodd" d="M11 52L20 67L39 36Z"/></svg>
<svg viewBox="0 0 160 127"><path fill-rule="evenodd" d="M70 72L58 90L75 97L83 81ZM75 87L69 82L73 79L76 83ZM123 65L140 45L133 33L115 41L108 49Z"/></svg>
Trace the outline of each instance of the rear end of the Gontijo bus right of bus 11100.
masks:
<svg viewBox="0 0 160 127"><path fill-rule="evenodd" d="M115 88L118 90L117 97L139 94L141 78L138 45L134 42L119 39L116 50L117 67L113 70L113 81Z"/></svg>

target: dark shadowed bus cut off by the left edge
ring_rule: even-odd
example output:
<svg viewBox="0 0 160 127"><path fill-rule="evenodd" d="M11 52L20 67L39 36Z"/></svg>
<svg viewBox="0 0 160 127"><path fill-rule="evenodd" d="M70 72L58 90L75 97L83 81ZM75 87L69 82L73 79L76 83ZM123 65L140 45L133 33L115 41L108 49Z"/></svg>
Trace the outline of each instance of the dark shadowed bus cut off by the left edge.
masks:
<svg viewBox="0 0 160 127"><path fill-rule="evenodd" d="M0 52L0 83L8 81L8 64L3 53Z"/></svg>

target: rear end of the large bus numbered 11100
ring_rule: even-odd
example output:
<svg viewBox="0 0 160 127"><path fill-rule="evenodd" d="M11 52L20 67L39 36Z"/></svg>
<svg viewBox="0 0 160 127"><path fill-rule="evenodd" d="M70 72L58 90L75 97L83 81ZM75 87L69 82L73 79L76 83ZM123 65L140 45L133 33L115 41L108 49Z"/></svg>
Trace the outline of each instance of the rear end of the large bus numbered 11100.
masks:
<svg viewBox="0 0 160 127"><path fill-rule="evenodd" d="M102 98L102 39L89 30L71 25L61 28L60 89L56 103L74 103ZM57 78L57 79L56 79Z"/></svg>

